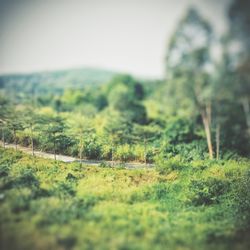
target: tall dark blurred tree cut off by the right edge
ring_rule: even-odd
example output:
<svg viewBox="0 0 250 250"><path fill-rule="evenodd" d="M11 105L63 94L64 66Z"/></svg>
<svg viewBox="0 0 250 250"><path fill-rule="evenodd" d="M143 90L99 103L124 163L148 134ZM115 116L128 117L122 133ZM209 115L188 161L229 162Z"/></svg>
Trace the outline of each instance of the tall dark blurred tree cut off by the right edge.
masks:
<svg viewBox="0 0 250 250"><path fill-rule="evenodd" d="M221 39L222 58L213 85L216 155L220 144L248 153L250 138L249 1L235 0L228 11L229 33ZM223 128L223 131L222 131ZM244 146L243 146L244 145Z"/></svg>

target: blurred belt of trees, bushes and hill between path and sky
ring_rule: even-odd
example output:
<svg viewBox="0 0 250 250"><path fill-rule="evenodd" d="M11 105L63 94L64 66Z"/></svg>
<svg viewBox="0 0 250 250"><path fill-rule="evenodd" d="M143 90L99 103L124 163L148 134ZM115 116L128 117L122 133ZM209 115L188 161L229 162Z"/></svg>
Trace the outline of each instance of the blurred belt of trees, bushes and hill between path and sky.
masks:
<svg viewBox="0 0 250 250"><path fill-rule="evenodd" d="M2 76L2 141L81 159L249 156L250 38L243 4L232 3L230 29L220 37L188 9L167 46L162 80L98 69ZM214 47L220 54L213 55Z"/></svg>

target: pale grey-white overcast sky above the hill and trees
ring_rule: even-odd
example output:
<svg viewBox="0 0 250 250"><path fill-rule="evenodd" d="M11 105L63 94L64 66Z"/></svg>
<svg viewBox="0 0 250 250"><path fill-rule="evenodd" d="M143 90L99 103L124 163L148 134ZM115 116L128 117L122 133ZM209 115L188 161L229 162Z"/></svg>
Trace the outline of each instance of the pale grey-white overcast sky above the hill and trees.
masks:
<svg viewBox="0 0 250 250"><path fill-rule="evenodd" d="M0 74L98 67L162 77L189 6L221 34L230 0L0 0Z"/></svg>

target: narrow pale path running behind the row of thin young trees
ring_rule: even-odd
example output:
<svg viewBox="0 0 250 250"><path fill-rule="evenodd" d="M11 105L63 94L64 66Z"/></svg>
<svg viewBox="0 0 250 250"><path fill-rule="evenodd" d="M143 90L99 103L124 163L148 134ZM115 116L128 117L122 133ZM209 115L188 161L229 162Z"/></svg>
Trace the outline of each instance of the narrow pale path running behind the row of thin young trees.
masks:
<svg viewBox="0 0 250 250"><path fill-rule="evenodd" d="M0 143L1 143L1 146L3 147L2 141L0 141ZM13 148L13 149L15 149L16 146L15 146L15 144L7 144L7 143L5 143L5 148ZM22 151L24 153L27 153L27 154L32 154L31 148L28 148L28 147L23 147L23 146L17 145L17 150L20 150L20 151ZM34 154L35 154L35 156L42 157L42 158L45 158L45 159L54 159L54 154L51 154L51 153L45 153L45 152L42 152L42 151L36 151L35 150ZM58 155L58 154L56 155L56 160L63 161L63 162L76 162L76 161L80 162L79 158L74 158L74 157L67 156L67 155ZM154 167L153 164L145 164L145 163L138 163L138 162L122 163L122 162L114 161L112 163L111 161L99 161L99 160L87 160L87 159L82 160L82 163L86 164L86 165L90 165L90 166L98 166L101 163L106 163L106 164L110 164L110 165L122 164L123 166L125 166L125 168L129 168L129 169L141 169L141 168L152 168L152 167Z"/></svg>

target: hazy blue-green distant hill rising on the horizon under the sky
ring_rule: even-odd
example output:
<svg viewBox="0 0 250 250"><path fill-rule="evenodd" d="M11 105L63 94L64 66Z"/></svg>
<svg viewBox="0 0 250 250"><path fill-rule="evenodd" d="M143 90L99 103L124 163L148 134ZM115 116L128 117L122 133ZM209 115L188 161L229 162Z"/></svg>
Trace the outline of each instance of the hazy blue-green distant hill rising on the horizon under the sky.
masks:
<svg viewBox="0 0 250 250"><path fill-rule="evenodd" d="M55 93L67 88L79 89L85 86L97 86L109 81L115 74L115 72L97 68L10 74L0 76L0 88L10 92Z"/></svg>

